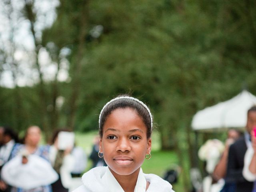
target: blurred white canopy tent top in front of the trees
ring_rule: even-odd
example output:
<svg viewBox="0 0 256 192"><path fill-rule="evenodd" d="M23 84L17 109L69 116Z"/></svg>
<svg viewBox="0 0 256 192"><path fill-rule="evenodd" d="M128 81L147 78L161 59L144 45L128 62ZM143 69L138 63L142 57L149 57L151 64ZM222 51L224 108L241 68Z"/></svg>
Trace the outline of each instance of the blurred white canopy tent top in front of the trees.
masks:
<svg viewBox="0 0 256 192"><path fill-rule="evenodd" d="M256 105L256 96L243 90L230 100L198 111L192 119L192 129L242 128L246 125L247 111L253 105Z"/></svg>

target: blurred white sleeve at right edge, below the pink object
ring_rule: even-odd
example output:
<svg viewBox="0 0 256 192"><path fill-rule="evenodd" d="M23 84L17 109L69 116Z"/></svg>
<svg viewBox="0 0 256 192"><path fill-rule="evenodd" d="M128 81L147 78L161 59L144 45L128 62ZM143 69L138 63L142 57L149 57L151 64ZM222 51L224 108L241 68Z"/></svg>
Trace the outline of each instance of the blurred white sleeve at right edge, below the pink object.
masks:
<svg viewBox="0 0 256 192"><path fill-rule="evenodd" d="M244 168L243 168L243 176L248 181L255 181L256 180L256 174L252 174L249 170L249 165L252 160L252 156L254 154L254 150L252 147L248 147L247 151L244 156Z"/></svg>

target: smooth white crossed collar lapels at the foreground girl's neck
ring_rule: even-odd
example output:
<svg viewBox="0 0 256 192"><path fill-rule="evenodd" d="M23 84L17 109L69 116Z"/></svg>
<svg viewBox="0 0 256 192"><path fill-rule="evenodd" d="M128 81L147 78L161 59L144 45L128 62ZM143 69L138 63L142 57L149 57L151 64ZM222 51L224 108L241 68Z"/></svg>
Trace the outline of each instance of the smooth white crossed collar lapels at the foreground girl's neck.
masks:
<svg viewBox="0 0 256 192"><path fill-rule="evenodd" d="M109 168L106 169L106 172L102 177L102 180L110 192L124 192L124 190L122 189L122 187L120 186L116 178L110 172ZM138 174L138 179L136 182L134 192L145 192L146 185L147 185L147 181L142 172L142 168L140 168L140 172Z"/></svg>

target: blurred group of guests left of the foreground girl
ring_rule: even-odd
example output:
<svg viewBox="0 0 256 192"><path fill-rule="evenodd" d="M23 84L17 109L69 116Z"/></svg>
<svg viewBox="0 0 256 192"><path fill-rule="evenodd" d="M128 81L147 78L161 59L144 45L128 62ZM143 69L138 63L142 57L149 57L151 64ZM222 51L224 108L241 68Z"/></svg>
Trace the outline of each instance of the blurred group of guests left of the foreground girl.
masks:
<svg viewBox="0 0 256 192"><path fill-rule="evenodd" d="M87 156L74 133L57 130L46 145L40 145L41 137L38 126L28 127L22 140L12 128L0 127L0 192L70 192L82 184ZM96 137L92 167L105 165L98 144Z"/></svg>

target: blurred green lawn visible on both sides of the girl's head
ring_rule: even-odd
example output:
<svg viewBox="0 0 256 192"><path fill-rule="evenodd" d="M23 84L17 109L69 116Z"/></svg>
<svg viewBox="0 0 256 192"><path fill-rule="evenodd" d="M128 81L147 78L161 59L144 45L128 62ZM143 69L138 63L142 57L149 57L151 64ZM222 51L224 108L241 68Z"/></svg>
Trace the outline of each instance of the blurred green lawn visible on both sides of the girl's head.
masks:
<svg viewBox="0 0 256 192"><path fill-rule="evenodd" d="M97 131L88 133L76 132L76 145L82 147L89 156L93 146L93 140L98 135ZM142 169L144 173L153 173L160 177L164 176L166 170L176 168L178 166L178 157L173 151L160 150L160 136L158 132L152 134L152 157L144 160ZM92 162L88 160L88 165L85 171L88 171L92 166ZM173 185L175 191L183 191L182 179L178 180L177 184Z"/></svg>

